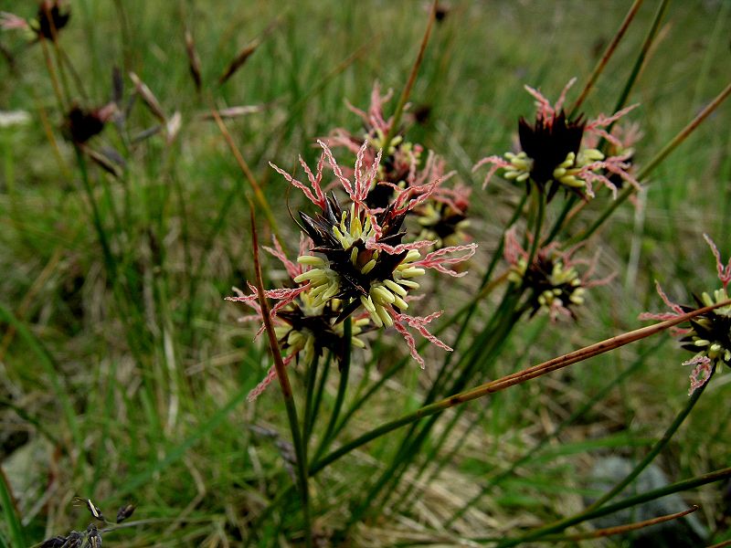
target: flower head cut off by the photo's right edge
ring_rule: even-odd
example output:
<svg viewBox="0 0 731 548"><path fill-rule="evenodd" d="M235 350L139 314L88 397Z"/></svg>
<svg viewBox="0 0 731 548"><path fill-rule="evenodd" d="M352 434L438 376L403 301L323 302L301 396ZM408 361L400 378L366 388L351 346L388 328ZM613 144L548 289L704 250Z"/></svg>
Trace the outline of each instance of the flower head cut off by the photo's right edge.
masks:
<svg viewBox="0 0 731 548"><path fill-rule="evenodd" d="M641 320L671 320L701 307L713 306L728 300L728 283L731 281L731 258L726 265L721 261L721 253L714 241L704 234L705 241L715 257L715 267L722 288L712 294L703 292L700 298L694 296L696 306L681 305L673 302L662 290L660 283L655 282L657 292L662 301L670 308L669 312L645 312ZM723 365L731 366L731 305L722 306L713 311L695 316L688 321L688 327L673 330L680 337L681 347L695 353L683 365L694 365L690 375L693 394L697 388L705 385L714 371L720 371Z"/></svg>

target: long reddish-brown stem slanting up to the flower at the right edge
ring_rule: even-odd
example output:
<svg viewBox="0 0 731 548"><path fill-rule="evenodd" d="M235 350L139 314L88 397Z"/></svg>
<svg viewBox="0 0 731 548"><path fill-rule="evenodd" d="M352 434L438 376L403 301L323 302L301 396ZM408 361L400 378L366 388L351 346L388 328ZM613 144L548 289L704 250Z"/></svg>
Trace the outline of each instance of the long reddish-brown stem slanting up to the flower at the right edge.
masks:
<svg viewBox="0 0 731 548"><path fill-rule="evenodd" d="M344 446L335 449L326 457L316 461L310 468L310 474L317 473L338 458L341 458L353 449L359 448L365 443L376 439L376 437L381 437L388 432L396 430L399 427L414 423L421 418L441 413L446 409L450 409L454 406L459 406L485 395L500 392L505 388L523 384L526 381L542 376L544 374L551 373L558 369L562 369L564 367L567 367L568 365L583 362L584 360L597 356L601 353L607 353L610 350L619 348L620 346L630 344L630 342L640 341L641 339L650 337L670 327L673 327L673 325L678 325L679 323L683 323L683 321L688 321L695 316L705 314L708 311L715 310L716 308L722 306L727 306L728 304L731 304L731 300L724 300L723 302L717 303L714 306L709 306L698 309L696 311L688 312L687 314L683 314L682 316L678 316L677 318L673 318L672 320L662 321L654 325L649 325L647 327L642 327L631 332L626 332L616 337L611 337L604 341L596 342L572 353L567 353L562 356L553 358L551 360L548 360L547 362L544 362L543 364L534 365L533 367L528 367L523 371L503 376L500 379L485 383L483 385L472 388L471 390L461 392L460 394L450 395L449 397L444 398L439 402L430 404L429 406L423 406L413 413L409 413L406 416L402 416L400 418L397 418L396 420L387 422L380 427L376 427L373 430L366 432L360 437L356 437L354 440L344 444Z"/></svg>

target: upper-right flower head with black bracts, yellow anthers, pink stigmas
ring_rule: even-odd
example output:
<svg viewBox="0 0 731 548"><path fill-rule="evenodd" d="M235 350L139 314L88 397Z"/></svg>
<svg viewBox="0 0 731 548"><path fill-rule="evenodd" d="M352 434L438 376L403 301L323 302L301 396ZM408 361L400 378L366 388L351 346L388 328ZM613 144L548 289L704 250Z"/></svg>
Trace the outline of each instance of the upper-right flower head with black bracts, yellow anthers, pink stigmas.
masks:
<svg viewBox="0 0 731 548"><path fill-rule="evenodd" d="M631 153L607 156L597 148L582 146L582 140L592 135L618 143L617 138L604 128L635 107L618 111L609 117L599 115L595 120L587 120L581 114L570 118L563 105L567 91L575 81L572 79L568 82L554 105L538 90L525 86L525 90L535 97L535 121L531 123L523 117L518 121L521 149L518 153L488 156L475 164L472 171L487 163L491 164L484 184L490 181L497 170L502 169L505 179L525 183L528 191L534 185L538 192L546 195L548 201L561 188L582 198L593 197L594 183L606 185L616 195L617 185L611 180L613 175L639 185L627 171Z"/></svg>

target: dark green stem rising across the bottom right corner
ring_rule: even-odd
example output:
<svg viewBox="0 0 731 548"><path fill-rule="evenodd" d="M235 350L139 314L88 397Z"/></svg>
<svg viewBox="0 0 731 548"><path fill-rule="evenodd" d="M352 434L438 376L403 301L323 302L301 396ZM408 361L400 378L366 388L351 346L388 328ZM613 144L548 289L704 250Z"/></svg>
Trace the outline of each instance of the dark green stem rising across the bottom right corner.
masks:
<svg viewBox="0 0 731 548"><path fill-rule="evenodd" d="M567 527L570 527L571 525L576 525L577 523L594 520L596 518L609 515L610 513L614 513L615 511L620 511L624 510L625 508L637 506L638 504L642 504L643 502L654 501L655 499L660 499L661 497L664 497L666 495L671 495L673 493L677 493L683 490L695 489L696 487L701 487L702 485L705 485L707 483L713 483L714 481L720 481L721 479L726 479L729 477L731 477L731 468L715 470L713 472L709 472L708 474L704 474L703 476L696 476L695 478L691 479L683 479L682 481L677 481L670 485L666 485L665 487L650 490L634 497L629 497L627 499L615 502L614 504L604 506L594 511L582 511L581 513L578 513L571 518L567 518L566 520L562 520L561 522L546 525L545 527L535 529L533 532L528 532L524 536L514 539L508 539L506 541L503 541L502 543L498 542L498 548L509 548L511 546L517 546L518 544L527 543L529 541L535 541L535 539L541 539L553 532L563 531Z"/></svg>

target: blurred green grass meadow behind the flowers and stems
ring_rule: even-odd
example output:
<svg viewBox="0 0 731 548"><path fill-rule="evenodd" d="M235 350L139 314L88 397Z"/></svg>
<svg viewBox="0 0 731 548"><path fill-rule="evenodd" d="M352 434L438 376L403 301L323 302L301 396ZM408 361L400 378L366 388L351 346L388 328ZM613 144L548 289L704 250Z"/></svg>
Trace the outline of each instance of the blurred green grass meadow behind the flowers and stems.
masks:
<svg viewBox="0 0 731 548"><path fill-rule="evenodd" d="M34 13L32 3L16 4L0 0L0 10ZM412 108L430 108L429 120L410 132L412 140L444 155L473 187L471 234L480 249L471 274L449 290L434 284L419 303L423 311L447 308L447 315L473 297L522 192L499 178L483 191L484 171L471 174L471 166L485 155L510 150L517 118L533 112L524 84L555 98L576 76L576 97L630 3L450 5L449 15L434 28L410 98ZM253 193L215 122L202 116L212 104L261 107L226 125L293 250L297 229L286 208L296 212L302 198L267 163L293 169L302 153L312 164L316 137L334 127L358 130L360 121L344 100L365 107L376 79L394 88L396 98L389 103L394 108L428 10L410 0L79 0L71 8L60 43L89 100L82 100L67 74L72 97L90 107L110 100L113 67L121 69L129 97L132 82L126 73L132 70L167 116L181 113L182 127L170 144L159 134L132 146L134 135L157 123L138 98L122 133L110 125L91 142L96 150L113 147L122 153L124 174L113 178L87 160L85 182L73 148L58 131L62 115L42 48L28 46L20 35L0 34L4 51L14 58L12 66L0 58L0 105L31 115L25 126L0 127L0 402L12 404L0 409L0 459L15 449L6 441L12 433L27 433L32 444L48 440L52 448L33 478L48 489L48 500L39 504L14 492L11 479L8 493L16 498L22 524L3 503L0 543L23 545L23 535L37 543L85 528L88 514L70 505L79 495L110 514L134 501L135 519L153 520L110 533L105 545L239 545L268 502L291 485L278 445L291 436L276 386L256 404L244 400L270 366L265 337L252 342L250 326L236 321L248 312L223 297L232 293L231 286L253 281L248 202ZM655 9L655 2L642 5L584 104L589 115L611 111ZM670 6L630 94L630 103L641 103L631 119L645 134L636 147L638 163L657 153L728 84L730 11L727 2ZM201 94L188 74L186 27L201 58ZM261 44L246 65L218 86L230 59L255 39ZM653 279L681 302L715 287L713 258L701 234L714 237L727 257L728 117L726 104L652 174L643 220L632 205L622 205L588 242L590 252L602 250L600 273L618 276L591 290L578 321L524 322L505 343L503 358L476 375L478 382L639 326L638 313L662 309ZM577 228L588 226L609 200L604 194L588 205ZM256 213L260 237L269 239L260 208ZM556 214L556 207L548 212L551 218ZM630 256L632 245L639 255ZM274 287L285 275L276 260L262 259L265 283ZM630 259L636 261L636 274L628 277ZM463 351L478 337L497 299L493 295L476 311ZM449 342L455 327L445 329ZM450 418L440 421L424 454L450 459L432 476L429 461L417 461L427 470L422 479L430 478L408 493L419 503L399 502L404 491L395 491L386 518L351 530L354 545L384 545L392 538L387 535L397 535L394 529L441 538L432 511L448 519L486 478L542 443L546 448L514 477L474 503L470 519L456 522L452 538L514 536L505 529L508 518L517 531L565 517L567 508L579 510L591 463L607 454L643 456L687 400L688 371L680 363L688 354L666 343L652 346L647 355L651 344L626 347L494 401L471 404L453 419L455 430L443 447L440 427ZM345 409L355 401L365 372L377 378L408 354L392 333L377 342L373 338L371 347L378 349L377 361L354 356ZM420 406L444 357L432 349L424 355L426 370L408 363L354 414L341 439ZM639 357L641 364L634 365ZM604 390L628 368L631 374ZM291 377L300 397L302 370L292 370ZM673 481L727 465L727 378L714 379L661 453L659 461ZM335 404L338 380L333 368L324 411ZM587 402L592 404L588 415L544 441ZM329 537L342 528L353 491L381 473L401 436L376 440L312 480L316 535ZM406 485L417 469L409 469ZM720 511L721 489L705 487L698 497L692 493L688 501L702 500L702 519L709 521ZM298 512L294 501L274 509L260 526L260 543L301 542Z"/></svg>

